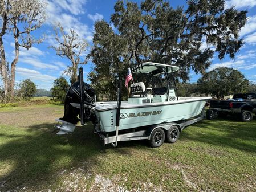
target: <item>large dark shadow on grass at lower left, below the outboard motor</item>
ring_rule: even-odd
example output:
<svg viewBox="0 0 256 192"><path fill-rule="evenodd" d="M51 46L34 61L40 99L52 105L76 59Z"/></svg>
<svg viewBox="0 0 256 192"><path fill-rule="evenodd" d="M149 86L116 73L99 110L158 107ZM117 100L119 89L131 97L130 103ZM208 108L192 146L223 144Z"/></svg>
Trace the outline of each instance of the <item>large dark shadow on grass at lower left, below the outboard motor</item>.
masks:
<svg viewBox="0 0 256 192"><path fill-rule="evenodd" d="M98 164L97 157L107 149L99 137L94 135L92 126L78 127L74 134L56 136L51 133L54 124L32 125L15 134L1 133L0 191L14 190L17 186L36 186L54 183L59 172L88 162L86 170ZM18 128L17 132L19 131ZM117 153L124 153L122 149ZM39 188L40 189L40 188Z"/></svg>

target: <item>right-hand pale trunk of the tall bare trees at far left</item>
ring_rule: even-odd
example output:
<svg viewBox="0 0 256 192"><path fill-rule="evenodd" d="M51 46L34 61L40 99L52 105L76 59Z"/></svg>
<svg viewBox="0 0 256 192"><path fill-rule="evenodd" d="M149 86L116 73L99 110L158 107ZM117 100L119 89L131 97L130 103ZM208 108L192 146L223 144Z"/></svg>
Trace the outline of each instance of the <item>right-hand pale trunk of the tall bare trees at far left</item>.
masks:
<svg viewBox="0 0 256 192"><path fill-rule="evenodd" d="M19 42L18 36L14 37L15 39L15 58L13 62L11 62L11 79L10 79L10 96L14 97L14 84L15 84L15 71L16 71L16 64L19 60Z"/></svg>

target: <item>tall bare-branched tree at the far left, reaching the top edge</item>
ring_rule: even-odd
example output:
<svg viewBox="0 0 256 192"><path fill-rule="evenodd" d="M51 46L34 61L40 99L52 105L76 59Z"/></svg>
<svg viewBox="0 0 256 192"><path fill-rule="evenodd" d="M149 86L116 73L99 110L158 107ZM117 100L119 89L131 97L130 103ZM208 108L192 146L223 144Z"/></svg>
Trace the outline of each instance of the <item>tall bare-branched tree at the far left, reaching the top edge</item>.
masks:
<svg viewBox="0 0 256 192"><path fill-rule="evenodd" d="M15 69L19 60L19 47L27 49L34 43L42 42L35 39L31 32L40 28L46 19L46 3L40 0L2 0L0 3L0 73L5 88L5 97L14 96ZM11 70L6 59L3 37L14 38L15 57L11 62Z"/></svg>

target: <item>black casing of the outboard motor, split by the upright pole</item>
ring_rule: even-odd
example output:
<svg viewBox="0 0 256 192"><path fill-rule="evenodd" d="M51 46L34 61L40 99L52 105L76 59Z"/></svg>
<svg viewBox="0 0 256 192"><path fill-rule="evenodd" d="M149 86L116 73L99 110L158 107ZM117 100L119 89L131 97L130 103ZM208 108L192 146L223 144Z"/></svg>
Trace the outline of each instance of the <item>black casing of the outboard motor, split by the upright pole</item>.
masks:
<svg viewBox="0 0 256 192"><path fill-rule="evenodd" d="M80 119L78 115L80 114L80 109L73 107L70 103L80 104L80 86L79 82L75 82L68 89L64 102L64 116L60 118L63 121L71 122L72 124L77 124ZM84 83L84 101L86 103L92 103L95 98L95 91L87 83ZM90 115L90 109L85 109L85 121L89 121L87 117Z"/></svg>

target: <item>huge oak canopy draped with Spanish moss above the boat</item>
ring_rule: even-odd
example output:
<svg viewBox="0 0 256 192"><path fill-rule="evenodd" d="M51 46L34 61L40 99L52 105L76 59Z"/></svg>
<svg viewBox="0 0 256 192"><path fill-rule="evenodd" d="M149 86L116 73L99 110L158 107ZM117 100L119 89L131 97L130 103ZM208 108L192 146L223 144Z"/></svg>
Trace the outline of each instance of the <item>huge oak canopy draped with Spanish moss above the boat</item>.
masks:
<svg viewBox="0 0 256 192"><path fill-rule="evenodd" d="M178 77L188 80L191 69L204 75L214 52L220 59L225 55L234 59L235 53L243 46L239 31L245 26L247 11L238 11L234 7L225 9L224 0L190 0L186 9L174 9L163 0L145 0L140 7L136 2L126 2L124 5L123 1L117 1L115 13L111 15L115 33L106 30L107 33L103 34L97 30L99 24L95 23L94 40L98 44L94 46L98 50L108 52L110 47L117 47L120 40L123 42L121 50L105 54L105 60L117 55L124 66L147 61L174 64L180 67ZM114 40L111 35L119 40ZM204 48L204 41L211 48ZM95 68L107 66L108 63L105 67L95 64ZM120 73L126 71L127 68ZM101 73L95 75L96 79L101 79Z"/></svg>

